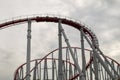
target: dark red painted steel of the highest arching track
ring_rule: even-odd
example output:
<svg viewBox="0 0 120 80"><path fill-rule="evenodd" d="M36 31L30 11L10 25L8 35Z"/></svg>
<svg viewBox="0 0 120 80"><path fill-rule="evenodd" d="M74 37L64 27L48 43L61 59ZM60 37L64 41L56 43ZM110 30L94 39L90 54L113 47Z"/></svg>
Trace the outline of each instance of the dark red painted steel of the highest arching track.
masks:
<svg viewBox="0 0 120 80"><path fill-rule="evenodd" d="M75 22L73 20L68 20L66 18L49 17L49 16L44 16L44 17L35 16L35 17L30 17L30 18L23 18L23 19L16 19L16 20L7 21L7 22L4 22L4 23L0 24L0 29L7 28L9 26L16 25L16 24L25 23L29 19L31 21L36 21L36 22L55 22L55 23L58 23L59 20L61 20L63 24L72 26L72 27L74 27L74 28L76 28L78 30L80 30L81 27L83 27L84 28L83 29L84 33L88 34L92 40L95 37L95 35L91 34L91 32L90 32L90 30L88 30L88 28L86 28L84 25L82 25L82 24L80 24L78 22ZM96 39L94 39L94 40L96 40Z"/></svg>

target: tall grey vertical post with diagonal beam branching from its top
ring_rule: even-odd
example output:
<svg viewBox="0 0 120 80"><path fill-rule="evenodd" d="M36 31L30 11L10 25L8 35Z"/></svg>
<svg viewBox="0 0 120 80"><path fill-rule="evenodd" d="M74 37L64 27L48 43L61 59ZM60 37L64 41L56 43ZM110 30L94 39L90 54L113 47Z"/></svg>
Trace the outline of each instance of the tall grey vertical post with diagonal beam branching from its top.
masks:
<svg viewBox="0 0 120 80"><path fill-rule="evenodd" d="M59 56L58 56L58 80L62 80L63 74L62 74L62 34L61 34L61 20L59 20L58 23L58 42L59 42Z"/></svg>

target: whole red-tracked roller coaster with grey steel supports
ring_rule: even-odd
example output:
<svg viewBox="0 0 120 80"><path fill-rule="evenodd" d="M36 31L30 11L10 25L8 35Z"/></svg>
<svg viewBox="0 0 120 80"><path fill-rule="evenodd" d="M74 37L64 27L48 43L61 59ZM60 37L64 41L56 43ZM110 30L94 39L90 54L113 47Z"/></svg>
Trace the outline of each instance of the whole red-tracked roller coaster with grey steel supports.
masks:
<svg viewBox="0 0 120 80"><path fill-rule="evenodd" d="M58 24L58 48L31 60L33 22ZM24 23L28 24L26 62L16 69L14 80L120 80L120 64L103 54L95 33L80 21L56 15L32 15L3 21L0 29ZM80 32L80 47L71 46L62 24ZM62 45L63 39L66 47Z"/></svg>

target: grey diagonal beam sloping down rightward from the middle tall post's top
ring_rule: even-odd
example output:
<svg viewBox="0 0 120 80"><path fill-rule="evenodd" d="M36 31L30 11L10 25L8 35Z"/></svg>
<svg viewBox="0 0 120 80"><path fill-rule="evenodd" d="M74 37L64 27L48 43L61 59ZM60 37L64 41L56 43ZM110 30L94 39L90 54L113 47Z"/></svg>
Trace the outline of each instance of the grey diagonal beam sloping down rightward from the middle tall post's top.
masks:
<svg viewBox="0 0 120 80"><path fill-rule="evenodd" d="M60 30L62 31L63 37L64 37L65 42L66 42L66 44L67 44L67 46L68 46L68 48L69 48L69 51L70 51L70 53L71 53L71 56L72 56L73 61L74 61L74 63L75 63L75 66L76 66L76 68L77 68L77 70L78 70L78 72L79 72L79 74L80 74L80 78L81 78L81 80L85 80L85 77L84 77L84 75L83 75L83 73L82 73L82 71L81 71L81 69L80 69L80 66L78 65L78 63L77 63L77 61L76 61L76 59L75 59L73 50L72 50L72 48L71 48L71 45L70 45L70 43L69 43L69 40L68 40L65 32L64 32L64 29L63 29L62 26L61 26L61 23L60 23Z"/></svg>

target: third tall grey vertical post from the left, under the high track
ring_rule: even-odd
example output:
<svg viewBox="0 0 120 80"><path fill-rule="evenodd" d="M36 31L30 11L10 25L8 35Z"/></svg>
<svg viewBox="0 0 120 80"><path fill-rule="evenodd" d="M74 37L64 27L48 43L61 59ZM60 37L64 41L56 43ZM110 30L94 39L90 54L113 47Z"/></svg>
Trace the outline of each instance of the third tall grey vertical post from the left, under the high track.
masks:
<svg viewBox="0 0 120 80"><path fill-rule="evenodd" d="M81 53L82 53L82 72L86 80L86 59L85 59L85 49L84 49L84 36L83 36L83 27L81 27Z"/></svg>

